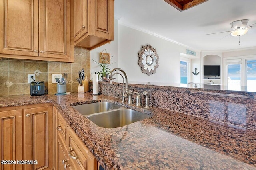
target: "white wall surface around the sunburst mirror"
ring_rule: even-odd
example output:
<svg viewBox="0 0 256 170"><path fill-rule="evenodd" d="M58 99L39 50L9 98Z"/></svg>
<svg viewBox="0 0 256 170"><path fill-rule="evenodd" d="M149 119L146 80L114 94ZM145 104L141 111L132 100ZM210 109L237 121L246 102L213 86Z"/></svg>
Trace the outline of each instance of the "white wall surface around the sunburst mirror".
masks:
<svg viewBox="0 0 256 170"><path fill-rule="evenodd" d="M138 65L138 53L148 44L159 56L159 67L150 76L142 73ZM180 83L180 53L186 53L186 47L119 25L118 66L126 72L128 82Z"/></svg>

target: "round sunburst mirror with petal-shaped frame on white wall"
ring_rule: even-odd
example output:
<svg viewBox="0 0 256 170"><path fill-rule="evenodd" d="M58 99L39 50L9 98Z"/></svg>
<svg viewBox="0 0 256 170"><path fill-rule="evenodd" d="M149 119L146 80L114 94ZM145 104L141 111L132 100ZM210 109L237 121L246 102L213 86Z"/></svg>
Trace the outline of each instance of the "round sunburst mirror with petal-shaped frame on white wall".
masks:
<svg viewBox="0 0 256 170"><path fill-rule="evenodd" d="M143 46L139 52L138 64L141 67L143 73L154 74L156 73L156 68L158 68L158 55L156 49L151 45Z"/></svg>

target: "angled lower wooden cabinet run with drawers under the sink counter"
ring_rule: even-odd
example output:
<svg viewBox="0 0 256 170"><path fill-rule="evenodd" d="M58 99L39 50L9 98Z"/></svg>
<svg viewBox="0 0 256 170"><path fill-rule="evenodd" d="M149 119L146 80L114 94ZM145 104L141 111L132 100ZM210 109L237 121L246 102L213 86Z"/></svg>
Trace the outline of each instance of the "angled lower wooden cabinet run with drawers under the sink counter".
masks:
<svg viewBox="0 0 256 170"><path fill-rule="evenodd" d="M56 168L58 170L97 170L100 165L62 115L57 116Z"/></svg>

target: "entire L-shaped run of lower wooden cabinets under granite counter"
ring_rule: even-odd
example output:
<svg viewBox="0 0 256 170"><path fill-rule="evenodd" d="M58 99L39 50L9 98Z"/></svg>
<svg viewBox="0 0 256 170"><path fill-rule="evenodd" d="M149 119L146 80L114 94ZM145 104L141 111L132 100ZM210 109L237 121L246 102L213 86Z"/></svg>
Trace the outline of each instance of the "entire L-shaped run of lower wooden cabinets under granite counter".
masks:
<svg viewBox="0 0 256 170"><path fill-rule="evenodd" d="M52 104L0 108L0 170L97 170L98 161ZM17 161L30 160L29 164Z"/></svg>

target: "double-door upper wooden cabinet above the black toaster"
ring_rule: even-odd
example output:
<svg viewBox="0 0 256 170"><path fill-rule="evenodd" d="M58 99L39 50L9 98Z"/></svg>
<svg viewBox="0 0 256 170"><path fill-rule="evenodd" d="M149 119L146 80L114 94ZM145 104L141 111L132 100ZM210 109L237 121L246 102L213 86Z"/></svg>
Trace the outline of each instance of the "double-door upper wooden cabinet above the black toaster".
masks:
<svg viewBox="0 0 256 170"><path fill-rule="evenodd" d="M74 62L69 0L0 0L1 57Z"/></svg>

